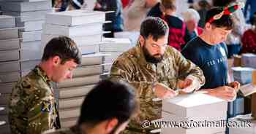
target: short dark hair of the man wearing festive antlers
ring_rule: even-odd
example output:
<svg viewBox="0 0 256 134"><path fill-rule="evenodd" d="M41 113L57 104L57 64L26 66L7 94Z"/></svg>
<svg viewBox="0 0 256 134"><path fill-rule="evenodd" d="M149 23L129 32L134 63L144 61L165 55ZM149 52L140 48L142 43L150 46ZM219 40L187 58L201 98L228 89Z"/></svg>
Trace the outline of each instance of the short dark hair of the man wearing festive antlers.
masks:
<svg viewBox="0 0 256 134"><path fill-rule="evenodd" d="M206 13L206 23L208 23L208 21L211 20L214 15L217 15L222 11L222 7L213 7L209 9ZM222 15L222 17L220 17L218 20L212 21L211 25L214 25L217 28L226 28L227 30L231 30L233 28L233 20L231 15Z"/></svg>

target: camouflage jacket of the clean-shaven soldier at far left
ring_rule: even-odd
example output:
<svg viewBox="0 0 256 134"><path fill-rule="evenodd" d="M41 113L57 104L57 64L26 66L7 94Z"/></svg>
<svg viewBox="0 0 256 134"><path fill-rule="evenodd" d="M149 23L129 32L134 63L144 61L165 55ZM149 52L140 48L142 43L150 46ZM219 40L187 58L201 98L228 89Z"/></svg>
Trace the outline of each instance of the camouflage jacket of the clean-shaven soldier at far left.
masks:
<svg viewBox="0 0 256 134"><path fill-rule="evenodd" d="M12 134L39 134L60 128L53 82L39 66L12 89L9 109Z"/></svg>

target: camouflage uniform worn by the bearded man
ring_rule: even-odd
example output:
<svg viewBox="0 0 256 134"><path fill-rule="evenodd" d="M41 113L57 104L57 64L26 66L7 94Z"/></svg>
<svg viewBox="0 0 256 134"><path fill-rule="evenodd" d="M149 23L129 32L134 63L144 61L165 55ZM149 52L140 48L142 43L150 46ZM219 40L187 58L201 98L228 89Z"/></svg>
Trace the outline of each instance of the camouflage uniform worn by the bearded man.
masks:
<svg viewBox="0 0 256 134"><path fill-rule="evenodd" d="M152 90L154 82L160 82L175 90L178 79L185 79L187 76L197 79L200 85L205 82L203 71L173 47L166 48L163 60L157 64L146 62L139 43L121 54L112 65L110 79L124 80L132 84L140 100L139 116L129 122L124 133L149 133L154 127L143 129L141 123L144 120L161 118L162 101L153 101L157 98Z"/></svg>

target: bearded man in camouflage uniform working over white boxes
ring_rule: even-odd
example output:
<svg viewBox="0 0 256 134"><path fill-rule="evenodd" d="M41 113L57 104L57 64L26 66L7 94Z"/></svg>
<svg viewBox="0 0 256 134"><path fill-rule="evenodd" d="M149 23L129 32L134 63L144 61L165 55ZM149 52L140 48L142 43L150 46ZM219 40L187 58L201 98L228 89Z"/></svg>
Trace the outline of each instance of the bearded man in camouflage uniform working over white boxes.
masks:
<svg viewBox="0 0 256 134"><path fill-rule="evenodd" d="M169 28L161 18L146 18L137 46L119 55L112 65L110 79L132 84L140 100L139 116L131 120L124 133L150 133L155 128L146 129L141 124L161 118L159 100L176 96L177 88L193 92L205 82L200 68L167 46L168 33Z"/></svg>

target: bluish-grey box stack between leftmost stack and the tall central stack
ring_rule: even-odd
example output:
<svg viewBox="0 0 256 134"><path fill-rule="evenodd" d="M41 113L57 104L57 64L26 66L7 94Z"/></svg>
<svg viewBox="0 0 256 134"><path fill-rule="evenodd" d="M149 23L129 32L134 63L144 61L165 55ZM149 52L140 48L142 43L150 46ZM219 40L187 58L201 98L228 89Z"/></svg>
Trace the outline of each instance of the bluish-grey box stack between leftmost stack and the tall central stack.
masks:
<svg viewBox="0 0 256 134"><path fill-rule="evenodd" d="M20 60L22 76L31 71L42 58L41 45L42 23L45 15L52 12L51 0L4 0L1 2L4 15L16 18L16 26L20 29Z"/></svg>

